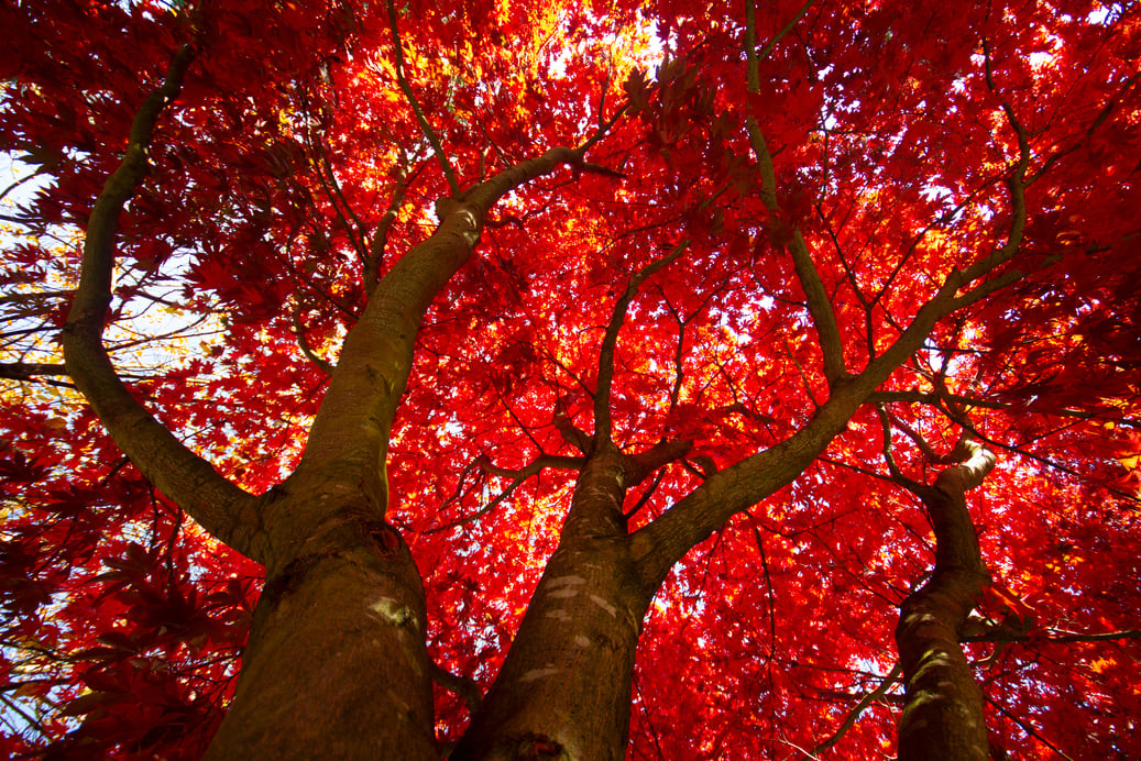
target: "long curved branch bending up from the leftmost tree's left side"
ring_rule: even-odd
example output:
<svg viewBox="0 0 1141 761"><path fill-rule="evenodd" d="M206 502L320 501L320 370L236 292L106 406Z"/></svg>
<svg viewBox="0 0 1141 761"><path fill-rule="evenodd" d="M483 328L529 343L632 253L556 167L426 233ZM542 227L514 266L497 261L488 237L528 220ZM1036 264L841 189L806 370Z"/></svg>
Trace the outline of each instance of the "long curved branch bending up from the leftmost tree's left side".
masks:
<svg viewBox="0 0 1141 761"><path fill-rule="evenodd" d="M112 298L119 216L149 170L147 151L155 124L163 108L180 91L193 57L192 46L184 46L171 60L162 86L135 114L127 153L107 178L88 219L80 282L60 331L60 342L67 372L75 386L115 444L147 479L207 532L237 551L260 559L265 548L256 545L254 541L257 500L187 450L131 396L103 345L104 318Z"/></svg>

